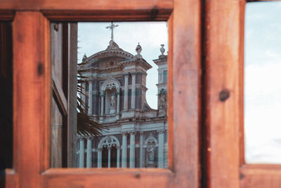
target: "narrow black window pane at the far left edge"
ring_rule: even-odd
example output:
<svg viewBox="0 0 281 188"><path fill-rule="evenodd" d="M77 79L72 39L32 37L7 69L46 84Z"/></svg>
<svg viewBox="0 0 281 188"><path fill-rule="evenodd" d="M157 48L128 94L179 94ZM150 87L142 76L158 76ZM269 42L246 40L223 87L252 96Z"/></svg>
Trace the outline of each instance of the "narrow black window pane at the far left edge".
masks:
<svg viewBox="0 0 281 188"><path fill-rule="evenodd" d="M0 22L0 170L13 168L13 48L11 22Z"/></svg>

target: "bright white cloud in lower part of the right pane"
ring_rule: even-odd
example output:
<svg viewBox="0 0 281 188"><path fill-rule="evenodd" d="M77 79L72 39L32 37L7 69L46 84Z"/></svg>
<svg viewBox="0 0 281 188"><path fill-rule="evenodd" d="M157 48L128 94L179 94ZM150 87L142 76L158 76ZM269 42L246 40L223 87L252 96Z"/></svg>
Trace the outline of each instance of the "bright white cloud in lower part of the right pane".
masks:
<svg viewBox="0 0 281 188"><path fill-rule="evenodd" d="M268 62L245 67L244 131L249 163L281 163L281 63L266 51Z"/></svg>

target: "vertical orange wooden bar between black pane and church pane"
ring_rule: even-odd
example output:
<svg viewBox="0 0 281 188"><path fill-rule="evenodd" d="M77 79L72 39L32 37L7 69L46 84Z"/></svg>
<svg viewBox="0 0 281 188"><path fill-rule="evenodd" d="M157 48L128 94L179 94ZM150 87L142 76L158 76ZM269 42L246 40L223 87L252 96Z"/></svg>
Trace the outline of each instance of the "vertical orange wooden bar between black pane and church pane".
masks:
<svg viewBox="0 0 281 188"><path fill-rule="evenodd" d="M40 187L40 173L49 166L51 92L46 31L48 21L41 13L16 13L13 22L13 168L20 187Z"/></svg>

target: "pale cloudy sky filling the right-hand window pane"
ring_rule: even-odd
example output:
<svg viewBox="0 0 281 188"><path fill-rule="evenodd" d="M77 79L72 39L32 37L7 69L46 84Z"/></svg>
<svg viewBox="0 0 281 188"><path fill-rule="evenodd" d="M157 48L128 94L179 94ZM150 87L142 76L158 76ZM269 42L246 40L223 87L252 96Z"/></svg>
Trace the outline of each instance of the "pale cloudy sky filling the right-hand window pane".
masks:
<svg viewBox="0 0 281 188"><path fill-rule="evenodd" d="M281 2L245 13L244 132L247 163L281 163Z"/></svg>

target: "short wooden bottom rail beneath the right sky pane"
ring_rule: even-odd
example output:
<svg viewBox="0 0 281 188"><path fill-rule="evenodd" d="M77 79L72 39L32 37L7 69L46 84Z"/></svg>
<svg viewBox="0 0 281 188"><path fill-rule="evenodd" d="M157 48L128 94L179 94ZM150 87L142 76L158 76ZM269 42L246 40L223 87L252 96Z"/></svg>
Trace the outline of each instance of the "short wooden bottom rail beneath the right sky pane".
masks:
<svg viewBox="0 0 281 188"><path fill-rule="evenodd" d="M281 187L281 165L247 164L240 169L240 187Z"/></svg>

